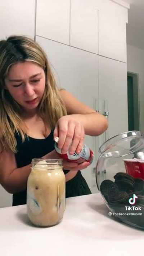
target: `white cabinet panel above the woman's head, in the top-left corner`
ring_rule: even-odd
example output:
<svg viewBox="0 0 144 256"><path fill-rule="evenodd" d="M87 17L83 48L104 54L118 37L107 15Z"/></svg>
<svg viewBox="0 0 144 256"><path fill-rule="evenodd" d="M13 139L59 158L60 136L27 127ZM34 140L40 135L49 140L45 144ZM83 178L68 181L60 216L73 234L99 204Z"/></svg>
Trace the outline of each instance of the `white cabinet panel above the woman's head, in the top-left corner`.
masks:
<svg viewBox="0 0 144 256"><path fill-rule="evenodd" d="M35 36L35 0L0 1L0 39L10 35Z"/></svg>

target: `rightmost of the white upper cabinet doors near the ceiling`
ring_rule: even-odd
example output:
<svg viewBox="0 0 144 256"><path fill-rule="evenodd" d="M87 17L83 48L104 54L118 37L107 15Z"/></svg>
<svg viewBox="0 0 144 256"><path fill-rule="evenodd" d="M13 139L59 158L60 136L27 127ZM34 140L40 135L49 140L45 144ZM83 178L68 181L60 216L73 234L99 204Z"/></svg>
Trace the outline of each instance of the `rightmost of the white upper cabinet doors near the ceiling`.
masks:
<svg viewBox="0 0 144 256"><path fill-rule="evenodd" d="M107 1L99 10L99 50L98 54L127 62L126 23L127 9Z"/></svg>

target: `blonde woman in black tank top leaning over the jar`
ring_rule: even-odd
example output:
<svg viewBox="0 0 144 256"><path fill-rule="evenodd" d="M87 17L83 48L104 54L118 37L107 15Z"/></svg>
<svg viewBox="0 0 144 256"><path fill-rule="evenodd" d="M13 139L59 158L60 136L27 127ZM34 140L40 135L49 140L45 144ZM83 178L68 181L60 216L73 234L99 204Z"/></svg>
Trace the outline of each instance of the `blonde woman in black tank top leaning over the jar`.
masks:
<svg viewBox="0 0 144 256"><path fill-rule="evenodd" d="M13 194L13 206L26 203L32 158L58 158L55 136L62 153L73 154L80 152L85 134L106 129L105 117L58 90L36 42L23 36L0 41L0 183ZM66 197L91 193L79 171L88 165L63 161Z"/></svg>

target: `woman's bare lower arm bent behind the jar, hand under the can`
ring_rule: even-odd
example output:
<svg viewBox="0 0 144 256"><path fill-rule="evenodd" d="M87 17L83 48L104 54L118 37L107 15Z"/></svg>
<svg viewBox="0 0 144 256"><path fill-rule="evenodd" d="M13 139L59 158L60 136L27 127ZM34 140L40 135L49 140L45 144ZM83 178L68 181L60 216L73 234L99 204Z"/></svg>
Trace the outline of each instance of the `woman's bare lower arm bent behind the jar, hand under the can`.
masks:
<svg viewBox="0 0 144 256"><path fill-rule="evenodd" d="M53 150L42 158L57 159L59 157L55 150ZM63 166L64 169L71 170L66 174L66 181L68 181L77 170L85 169L87 167L87 162L78 165L77 163L71 163L64 160ZM11 194L25 190L27 187L27 179L31 172L31 167L32 164L18 168L14 153L10 150L3 150L0 153L0 184L8 193Z"/></svg>

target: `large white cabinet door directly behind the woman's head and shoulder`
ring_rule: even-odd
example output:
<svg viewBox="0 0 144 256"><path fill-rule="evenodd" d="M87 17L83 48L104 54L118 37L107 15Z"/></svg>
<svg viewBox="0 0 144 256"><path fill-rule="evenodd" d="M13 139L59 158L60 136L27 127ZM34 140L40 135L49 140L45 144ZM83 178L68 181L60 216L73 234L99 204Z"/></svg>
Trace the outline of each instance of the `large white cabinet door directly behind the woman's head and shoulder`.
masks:
<svg viewBox="0 0 144 256"><path fill-rule="evenodd" d="M48 54L60 87L94 108L94 100L98 97L98 55L38 36L36 41ZM95 137L86 136L85 143L95 152ZM92 192L96 192L94 167L95 161L82 170Z"/></svg>

